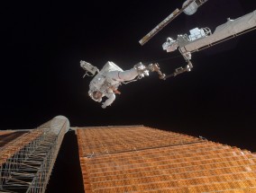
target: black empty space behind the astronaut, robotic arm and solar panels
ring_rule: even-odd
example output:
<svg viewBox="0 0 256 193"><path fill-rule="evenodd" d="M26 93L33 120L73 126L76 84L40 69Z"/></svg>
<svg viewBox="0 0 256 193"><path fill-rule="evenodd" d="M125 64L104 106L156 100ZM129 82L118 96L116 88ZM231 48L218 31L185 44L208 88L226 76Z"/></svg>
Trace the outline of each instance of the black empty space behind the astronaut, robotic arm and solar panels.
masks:
<svg viewBox="0 0 256 193"><path fill-rule="evenodd" d="M167 37L195 27L214 31L226 18L256 8L251 0L209 0L192 16L180 14L142 47L138 41L181 5L178 0L2 3L1 129L34 128L63 115L71 127L144 125L256 152L255 31L194 53L190 73L166 81L151 74L121 86L122 94L105 110L87 96L91 78L82 78L81 59L99 68L113 61L123 69L158 61L170 74L185 61L178 51L162 50ZM69 132L49 192L83 189L76 143Z"/></svg>

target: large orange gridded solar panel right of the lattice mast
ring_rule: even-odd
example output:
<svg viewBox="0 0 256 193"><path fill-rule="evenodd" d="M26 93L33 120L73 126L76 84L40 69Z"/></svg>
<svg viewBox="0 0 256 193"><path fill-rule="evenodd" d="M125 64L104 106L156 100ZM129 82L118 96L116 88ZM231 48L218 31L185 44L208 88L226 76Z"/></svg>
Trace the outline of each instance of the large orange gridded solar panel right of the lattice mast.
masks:
<svg viewBox="0 0 256 193"><path fill-rule="evenodd" d="M150 127L80 127L86 192L253 192L256 156Z"/></svg>

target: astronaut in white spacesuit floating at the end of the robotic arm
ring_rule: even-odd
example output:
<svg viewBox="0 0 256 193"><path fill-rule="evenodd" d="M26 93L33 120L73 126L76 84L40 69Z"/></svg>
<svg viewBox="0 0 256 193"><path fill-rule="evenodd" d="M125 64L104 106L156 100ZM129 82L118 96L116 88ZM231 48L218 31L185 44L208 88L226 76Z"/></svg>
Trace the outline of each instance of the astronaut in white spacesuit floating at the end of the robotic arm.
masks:
<svg viewBox="0 0 256 193"><path fill-rule="evenodd" d="M139 63L130 70L123 71L122 68L116 66L114 62L107 62L99 71L96 66L80 61L80 66L87 71L86 75L97 75L89 84L88 94L92 100L101 102L103 97L107 100L102 102L102 108L110 106L115 100L115 94L120 94L118 86L122 83L134 81L136 78L142 78L149 75L149 68Z"/></svg>

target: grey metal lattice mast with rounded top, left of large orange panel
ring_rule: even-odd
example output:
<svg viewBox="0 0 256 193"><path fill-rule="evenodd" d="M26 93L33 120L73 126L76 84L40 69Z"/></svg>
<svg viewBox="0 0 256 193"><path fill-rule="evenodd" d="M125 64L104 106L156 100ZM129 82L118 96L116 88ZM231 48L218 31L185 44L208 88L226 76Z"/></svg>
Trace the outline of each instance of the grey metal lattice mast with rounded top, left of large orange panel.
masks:
<svg viewBox="0 0 256 193"><path fill-rule="evenodd" d="M0 149L0 192L44 192L69 119L58 116Z"/></svg>

